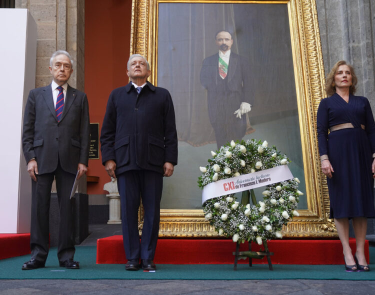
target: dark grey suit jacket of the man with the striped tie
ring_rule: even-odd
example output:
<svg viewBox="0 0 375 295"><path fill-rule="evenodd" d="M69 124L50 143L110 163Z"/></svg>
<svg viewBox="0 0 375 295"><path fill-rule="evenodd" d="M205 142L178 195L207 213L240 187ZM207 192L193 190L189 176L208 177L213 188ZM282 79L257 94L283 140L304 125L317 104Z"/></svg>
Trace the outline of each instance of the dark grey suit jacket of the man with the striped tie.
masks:
<svg viewBox="0 0 375 295"><path fill-rule="evenodd" d="M67 86L60 121L57 121L51 85L29 92L22 132L26 163L36 158L39 174L61 168L76 174L78 163L88 165L89 116L86 94Z"/></svg>

